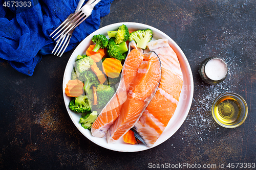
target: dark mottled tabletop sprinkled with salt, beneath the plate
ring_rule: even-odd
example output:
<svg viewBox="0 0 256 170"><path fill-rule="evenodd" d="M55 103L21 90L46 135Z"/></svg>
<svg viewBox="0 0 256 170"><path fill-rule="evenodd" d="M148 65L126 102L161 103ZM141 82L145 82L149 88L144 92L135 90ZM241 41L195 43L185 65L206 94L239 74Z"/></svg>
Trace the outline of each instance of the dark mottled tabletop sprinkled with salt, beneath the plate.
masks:
<svg viewBox="0 0 256 170"><path fill-rule="evenodd" d="M62 96L63 72L73 51L61 58L44 56L31 77L0 63L0 169L255 169L255 6L245 0L113 2L100 27L123 21L153 26L177 42L193 72L194 99L185 122L146 151L101 148L74 126ZM218 85L205 84L198 72L211 56L228 65L229 74ZM211 116L211 104L223 92L238 93L248 104L248 117L238 128L223 128Z"/></svg>

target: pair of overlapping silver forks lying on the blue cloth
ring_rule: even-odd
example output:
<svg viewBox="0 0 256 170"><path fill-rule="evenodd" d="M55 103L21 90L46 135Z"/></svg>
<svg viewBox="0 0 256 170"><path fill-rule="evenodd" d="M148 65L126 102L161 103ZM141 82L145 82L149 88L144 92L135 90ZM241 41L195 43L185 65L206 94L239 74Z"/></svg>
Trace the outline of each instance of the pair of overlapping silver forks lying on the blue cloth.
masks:
<svg viewBox="0 0 256 170"><path fill-rule="evenodd" d="M79 4L78 4L78 6L77 6L77 9L76 9L76 11L75 11L75 13L74 14L70 14L69 16L68 16L68 18L65 20L65 21L63 21L62 23L61 23L61 25L57 28L57 29L55 29L51 34L50 34L50 36L54 33L54 32L56 32L57 31L57 33L55 33L53 36L52 36L52 38L53 37L55 37L56 35L58 35L54 40L56 40L58 37L58 40L56 41L56 45L55 45L55 47L54 47L54 49L53 49L53 51L52 51L52 54L54 53L54 51L55 51L55 49L56 49L56 47L57 47L57 50L56 50L56 52L54 53L54 55L57 53L57 51L59 50L59 48L60 48L60 51L59 51L59 53L57 54L57 56L60 54L60 52L61 52L61 54L60 54L60 56L59 57L61 57L62 56L62 54L63 54L63 52L66 50L66 48L67 48L67 46L68 46L68 44L69 44L69 42L70 42L70 38L71 38L71 36L72 36L72 34L73 34L73 31L74 31L74 29L78 26L78 25L80 25L80 23L82 22L82 21L84 21L88 16L90 16L91 14L92 14L92 10L93 10L93 8L94 8L94 6L96 5L96 4L98 4L99 2L100 2L101 0L89 0L87 3L86 3L86 5L84 5L81 9L80 9L80 7L79 7L79 4L80 4L80 2L79 2ZM81 4L83 4L83 2L84 2L84 0L82 1L82 3ZM79 8L78 8L79 7ZM80 9L80 10L79 10ZM79 10L79 11L78 11ZM60 33L60 31L62 31L61 33ZM64 47L64 48L63 48ZM63 50L62 50L63 49Z"/></svg>

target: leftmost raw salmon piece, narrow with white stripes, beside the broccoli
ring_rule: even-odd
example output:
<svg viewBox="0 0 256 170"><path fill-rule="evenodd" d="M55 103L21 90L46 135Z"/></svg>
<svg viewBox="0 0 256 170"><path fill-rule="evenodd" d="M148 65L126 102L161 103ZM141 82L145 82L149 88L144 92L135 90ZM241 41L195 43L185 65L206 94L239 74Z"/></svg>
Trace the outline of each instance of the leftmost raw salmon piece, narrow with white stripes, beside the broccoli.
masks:
<svg viewBox="0 0 256 170"><path fill-rule="evenodd" d="M132 85L138 68L143 60L143 55L136 49L133 49L126 57L121 80L116 93L108 104L102 109L97 119L92 125L92 135L95 137L103 137L109 127L115 122L119 116L123 103L127 99L127 92Z"/></svg>

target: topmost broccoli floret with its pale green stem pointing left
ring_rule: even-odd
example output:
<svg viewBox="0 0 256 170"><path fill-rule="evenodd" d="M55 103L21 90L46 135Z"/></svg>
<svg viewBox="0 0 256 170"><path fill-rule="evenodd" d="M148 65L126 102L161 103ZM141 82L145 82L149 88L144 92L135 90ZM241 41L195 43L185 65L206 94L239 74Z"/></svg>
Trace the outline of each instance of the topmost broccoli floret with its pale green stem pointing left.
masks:
<svg viewBox="0 0 256 170"><path fill-rule="evenodd" d="M125 25L121 25L118 27L117 31L108 31L109 38L115 37L115 43L120 44L122 42L125 42L129 38L129 30Z"/></svg>

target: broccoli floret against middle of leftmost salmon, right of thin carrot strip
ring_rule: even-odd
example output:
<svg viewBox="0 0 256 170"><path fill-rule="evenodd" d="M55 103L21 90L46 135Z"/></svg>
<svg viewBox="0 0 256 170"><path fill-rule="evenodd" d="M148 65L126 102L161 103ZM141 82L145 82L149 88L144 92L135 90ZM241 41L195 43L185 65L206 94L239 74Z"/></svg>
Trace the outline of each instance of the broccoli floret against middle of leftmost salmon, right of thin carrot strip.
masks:
<svg viewBox="0 0 256 170"><path fill-rule="evenodd" d="M97 91L97 109L103 108L115 94L115 90L113 87L108 85L99 85L96 89Z"/></svg>

